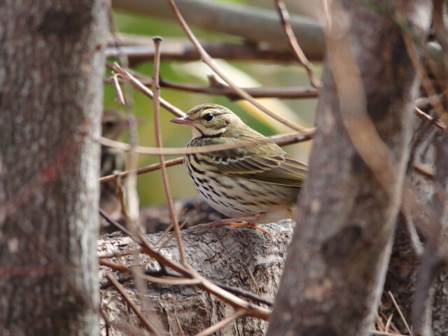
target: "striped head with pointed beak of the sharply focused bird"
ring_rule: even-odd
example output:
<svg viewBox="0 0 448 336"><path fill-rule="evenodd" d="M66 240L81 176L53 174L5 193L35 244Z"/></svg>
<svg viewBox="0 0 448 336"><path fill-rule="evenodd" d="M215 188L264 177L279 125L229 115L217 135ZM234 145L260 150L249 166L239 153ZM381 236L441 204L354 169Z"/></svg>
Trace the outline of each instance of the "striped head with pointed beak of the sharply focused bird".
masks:
<svg viewBox="0 0 448 336"><path fill-rule="evenodd" d="M193 132L193 139L199 137L232 137L247 127L235 113L216 104L196 106L188 111L184 117L170 121L189 126Z"/></svg>

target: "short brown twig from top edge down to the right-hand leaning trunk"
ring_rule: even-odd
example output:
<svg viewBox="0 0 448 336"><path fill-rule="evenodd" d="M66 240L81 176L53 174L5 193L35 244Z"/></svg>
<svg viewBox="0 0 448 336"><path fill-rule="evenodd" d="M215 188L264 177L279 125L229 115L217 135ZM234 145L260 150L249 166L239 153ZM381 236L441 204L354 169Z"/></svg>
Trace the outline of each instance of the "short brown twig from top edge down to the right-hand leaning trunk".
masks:
<svg viewBox="0 0 448 336"><path fill-rule="evenodd" d="M283 2L283 0L275 0L275 6L277 8L277 11L279 12L281 18L281 25L283 25L283 30L285 31L285 34L288 37L288 41L291 47L293 48L300 64L302 64L302 66L304 66L304 68L307 70L309 82L317 89L320 88L322 84L321 81L318 80L318 78L314 75L312 69L313 64L311 64L311 62L309 62L309 60L307 59L307 56L305 56L302 48L300 48L297 38L294 35L293 27L291 27L291 23L289 20L289 13L288 10L286 9L285 3Z"/></svg>

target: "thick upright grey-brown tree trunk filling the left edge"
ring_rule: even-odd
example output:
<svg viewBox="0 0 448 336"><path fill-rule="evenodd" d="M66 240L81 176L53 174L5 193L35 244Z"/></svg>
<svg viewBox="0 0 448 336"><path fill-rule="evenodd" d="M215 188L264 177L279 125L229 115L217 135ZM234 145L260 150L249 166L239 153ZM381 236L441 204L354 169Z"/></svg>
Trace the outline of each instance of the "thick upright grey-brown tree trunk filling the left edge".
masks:
<svg viewBox="0 0 448 336"><path fill-rule="evenodd" d="M0 8L0 334L97 335L105 4Z"/></svg>

